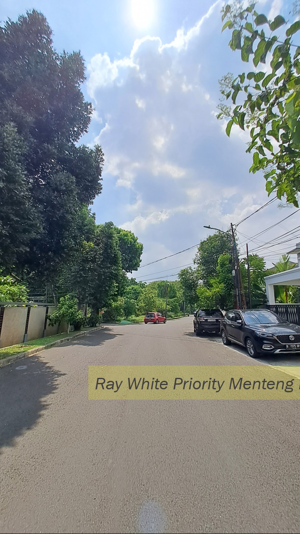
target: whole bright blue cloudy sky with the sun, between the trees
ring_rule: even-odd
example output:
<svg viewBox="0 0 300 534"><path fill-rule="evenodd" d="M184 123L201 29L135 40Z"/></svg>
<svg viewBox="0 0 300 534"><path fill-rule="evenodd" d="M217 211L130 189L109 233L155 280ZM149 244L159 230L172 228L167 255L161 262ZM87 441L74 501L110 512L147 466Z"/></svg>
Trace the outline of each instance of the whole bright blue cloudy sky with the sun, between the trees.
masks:
<svg viewBox="0 0 300 534"><path fill-rule="evenodd" d="M234 126L228 138L225 121L216 119L218 80L253 67L229 48L229 30L221 33L222 2L2 0L0 20L33 8L47 18L56 50L80 50L85 59L83 92L94 112L80 143L100 144L105 156L96 223L133 231L144 246L141 265L193 247L133 273L176 279L192 264L194 245L213 233L204 225L226 231L270 200L263 175L248 171L248 132ZM288 0L260 0L256 10L270 20L291 18ZM241 223L241 254L248 242L272 266L300 241L296 231L276 247L270 242L298 226L294 212L274 201Z"/></svg>

